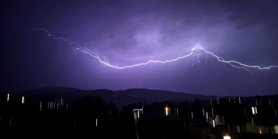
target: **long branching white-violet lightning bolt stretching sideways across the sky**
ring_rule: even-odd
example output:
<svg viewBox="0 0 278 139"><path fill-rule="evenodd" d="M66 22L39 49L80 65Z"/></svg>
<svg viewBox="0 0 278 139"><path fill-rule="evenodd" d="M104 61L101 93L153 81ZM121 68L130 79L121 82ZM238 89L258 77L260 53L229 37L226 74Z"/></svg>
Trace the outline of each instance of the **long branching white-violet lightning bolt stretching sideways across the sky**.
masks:
<svg viewBox="0 0 278 139"><path fill-rule="evenodd" d="M25 30L25 29L19 29L19 28L13 28L13 29ZM206 53L205 68L206 68L206 62L207 62L207 59L208 59L207 54L212 55L218 61L220 61L229 72L230 72L230 70L225 66L224 63L227 63L227 64L231 65L232 70L233 70L233 67L242 68L242 69L245 69L249 73L252 73L252 70L262 70L262 69L270 69L270 68L273 68L273 67L278 67L278 66L262 67L263 65L251 66L251 65L242 64L242 63L237 62L237 61L226 61L222 57L227 57L227 56L217 56L217 55L213 54L212 52L209 52L209 51L207 51L207 50L205 50L205 49L203 49L201 47L193 48L193 49L191 49L191 53L189 53L189 54L187 54L185 56L182 56L182 57L178 57L178 58L172 59L172 60L167 60L167 61L154 61L154 60L150 60L150 61L147 61L145 63L140 63L140 64L134 64L134 65L124 66L124 67L119 67L117 64L116 64L116 66L109 64L108 56L107 56L107 54L105 56L104 52L103 52L103 54L101 54L101 53L98 53L95 49L94 50L87 49L87 46L82 47L81 45L79 45L75 41L71 41L69 39L64 39L62 37L55 37L55 35L51 34L49 31L47 31L44 28L43 29L35 28L35 29L32 29L32 30L25 30L25 31L34 31L34 30L44 30L44 31L46 31L48 33L48 36L52 36L54 39L61 39L63 41L68 41L70 45L74 44L74 45L78 46L78 47L74 47L74 48L76 48L76 50L79 50L82 53L89 54L90 56L93 56L93 57L97 58L100 63L104 64L103 66L109 66L109 67L113 67L113 68L116 68L116 69L124 69L124 68L136 67L136 66L140 66L140 65L147 65L149 63L167 63L167 62L176 61L176 60L179 60L179 59L182 59L182 58L185 58L185 57L188 57L188 56L192 55L193 54L193 50L195 50L195 49L197 49L197 62L193 63L191 66L201 62L199 60L199 52L203 51L203 52ZM233 72L235 72L235 71L233 70Z"/></svg>

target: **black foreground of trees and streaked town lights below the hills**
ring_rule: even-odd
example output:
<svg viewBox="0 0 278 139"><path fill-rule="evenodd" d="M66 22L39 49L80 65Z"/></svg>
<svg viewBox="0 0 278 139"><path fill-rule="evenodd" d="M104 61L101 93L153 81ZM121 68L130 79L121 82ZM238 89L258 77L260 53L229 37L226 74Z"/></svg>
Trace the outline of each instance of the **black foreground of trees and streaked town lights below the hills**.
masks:
<svg viewBox="0 0 278 139"><path fill-rule="evenodd" d="M252 114L247 104L223 103L218 105L214 102L209 108L214 109L214 114L212 114L209 109L203 109L197 99L192 105L187 101L181 103L164 101L152 104L139 102L123 106L120 111L114 103L106 103L99 96L76 99L72 105L64 105L61 103L62 101L57 102L55 100L55 107L54 105L47 105L47 107L42 106L41 108L37 107L36 104L39 104L37 100L25 101L23 104L19 99L10 98L9 101L4 99L1 98L0 138L132 139L137 138L136 118L139 119L138 138L142 139L222 139L223 136L227 135L231 136L232 139L278 138L278 134L266 133L266 129L261 130L261 134L256 130L253 133L241 131L246 128L249 119L252 117L257 119L253 119L253 127L262 126L260 123L269 126L277 124L277 116L270 115L272 114L272 108L267 105L257 108L258 113L268 115L267 119L263 119L262 114ZM50 103L52 104L52 102ZM267 103L264 102L263 104ZM246 108L244 114L240 111L241 107ZM143 112L139 113L139 116L136 113L134 115L133 109L142 108ZM170 109L167 114L165 108ZM269 114L268 111L270 111ZM208 118L206 118L206 115ZM215 122L216 125L213 127L211 123L213 119L217 120L216 116L221 116L223 119L218 121L218 124ZM237 133L235 126L241 128L241 133Z"/></svg>

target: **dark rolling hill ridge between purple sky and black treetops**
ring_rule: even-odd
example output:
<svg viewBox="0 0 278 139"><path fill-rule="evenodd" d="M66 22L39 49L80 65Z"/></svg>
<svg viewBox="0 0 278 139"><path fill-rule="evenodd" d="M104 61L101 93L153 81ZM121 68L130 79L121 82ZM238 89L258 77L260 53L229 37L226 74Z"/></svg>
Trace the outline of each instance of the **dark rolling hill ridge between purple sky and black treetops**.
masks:
<svg viewBox="0 0 278 139"><path fill-rule="evenodd" d="M1 93L1 96L4 96ZM6 95L6 93L5 93ZM120 109L123 105L128 105L131 103L138 103L141 101L144 103L153 103L154 101L174 101L176 103L187 100L193 102L195 98L203 100L203 103L210 103L210 99L215 100L217 96L205 96L200 94L189 94L181 92L171 92L164 90L150 90L150 89L126 89L112 91L108 89L97 89L97 90L81 90L76 88L66 88L66 87L44 87L38 89L30 89L18 92L11 92L10 96L25 96L26 98L32 97L39 101L47 102L54 101L55 98L65 100L65 104L70 104L76 98L81 98L82 96L101 96L106 102L112 101ZM219 98L227 98L219 97Z"/></svg>

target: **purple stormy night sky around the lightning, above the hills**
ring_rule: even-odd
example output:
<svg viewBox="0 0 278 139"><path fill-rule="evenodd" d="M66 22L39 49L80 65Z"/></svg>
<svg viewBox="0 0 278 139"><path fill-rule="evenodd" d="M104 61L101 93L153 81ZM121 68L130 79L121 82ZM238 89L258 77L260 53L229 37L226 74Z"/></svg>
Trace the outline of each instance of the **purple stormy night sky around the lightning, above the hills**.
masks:
<svg viewBox="0 0 278 139"><path fill-rule="evenodd" d="M235 96L278 92L278 68L226 69L197 51L168 63L105 66L76 49L97 50L119 67L166 61L202 47L246 65L278 65L274 1L10 1L1 0L1 92L48 86L147 88ZM234 71L233 71L234 70Z"/></svg>

